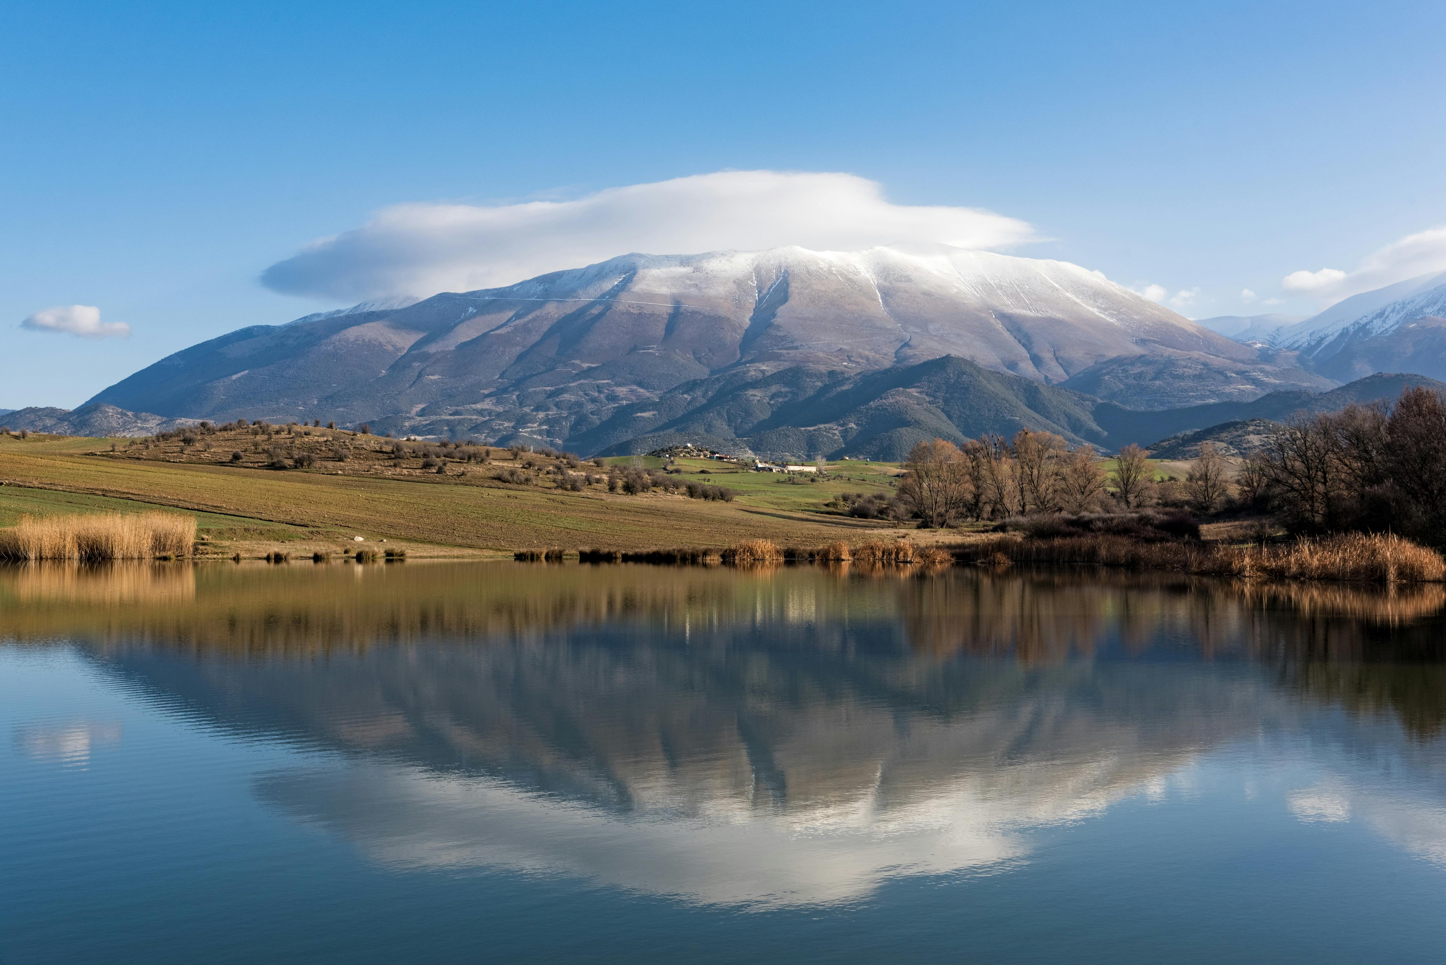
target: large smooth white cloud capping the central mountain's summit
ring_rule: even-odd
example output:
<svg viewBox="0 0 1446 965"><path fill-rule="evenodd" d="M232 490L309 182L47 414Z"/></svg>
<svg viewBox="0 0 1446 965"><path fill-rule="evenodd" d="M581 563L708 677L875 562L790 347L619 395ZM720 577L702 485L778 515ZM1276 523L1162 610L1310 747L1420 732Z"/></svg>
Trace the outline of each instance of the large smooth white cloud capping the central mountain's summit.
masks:
<svg viewBox="0 0 1446 965"><path fill-rule="evenodd" d="M876 182L850 174L726 171L574 201L399 204L272 265L262 284L360 301L510 285L629 252L857 250L897 242L999 249L1034 239L1027 223L979 208L892 204Z"/></svg>

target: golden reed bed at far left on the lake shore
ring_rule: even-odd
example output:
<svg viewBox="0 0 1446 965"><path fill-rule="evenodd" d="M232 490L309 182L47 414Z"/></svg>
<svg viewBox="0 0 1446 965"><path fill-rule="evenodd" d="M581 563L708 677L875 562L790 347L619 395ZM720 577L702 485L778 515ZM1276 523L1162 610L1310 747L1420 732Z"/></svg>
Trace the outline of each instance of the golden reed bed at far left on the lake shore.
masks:
<svg viewBox="0 0 1446 965"><path fill-rule="evenodd" d="M175 512L20 516L0 530L0 560L168 560L191 556L195 516Z"/></svg>

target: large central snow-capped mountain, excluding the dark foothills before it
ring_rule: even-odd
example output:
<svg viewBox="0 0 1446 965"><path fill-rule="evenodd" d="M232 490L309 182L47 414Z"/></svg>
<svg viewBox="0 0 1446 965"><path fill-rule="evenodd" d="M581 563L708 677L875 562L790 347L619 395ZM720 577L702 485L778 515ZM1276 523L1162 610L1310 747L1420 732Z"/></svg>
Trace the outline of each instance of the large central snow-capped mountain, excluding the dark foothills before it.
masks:
<svg viewBox="0 0 1446 965"><path fill-rule="evenodd" d="M1329 385L1076 265L949 246L784 247L625 255L254 326L91 402L586 449L574 440L612 438L597 431L622 408L697 381L753 379L749 366L846 378L950 354L1142 408Z"/></svg>

